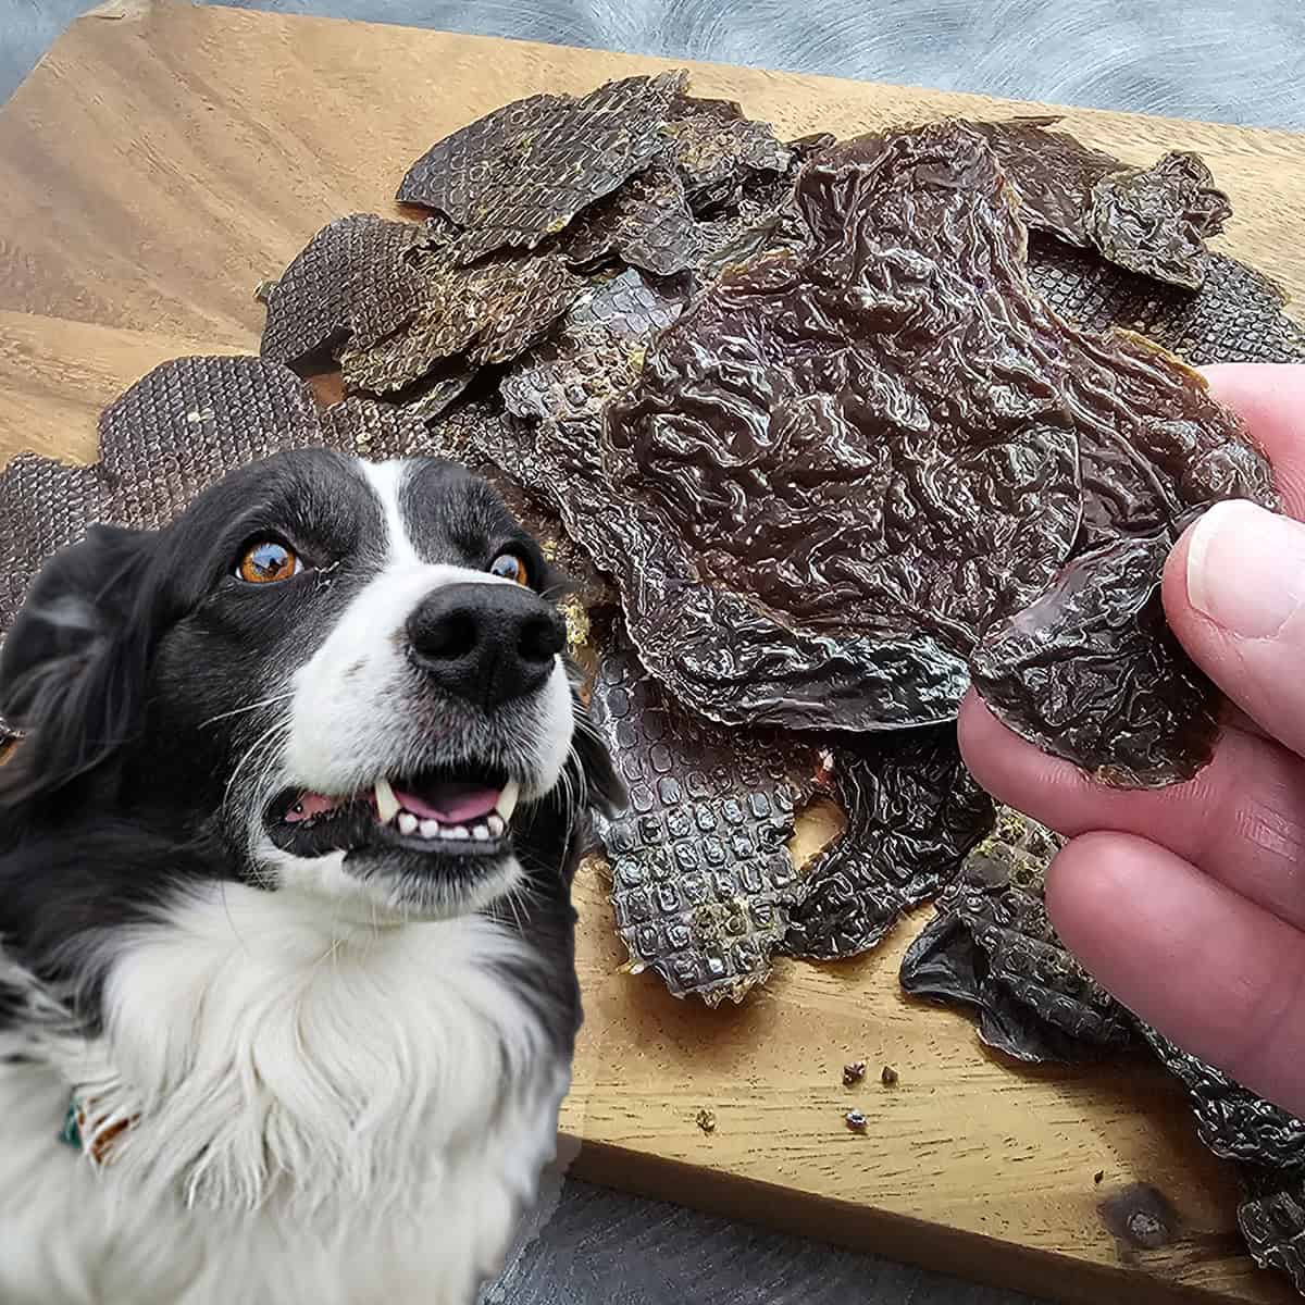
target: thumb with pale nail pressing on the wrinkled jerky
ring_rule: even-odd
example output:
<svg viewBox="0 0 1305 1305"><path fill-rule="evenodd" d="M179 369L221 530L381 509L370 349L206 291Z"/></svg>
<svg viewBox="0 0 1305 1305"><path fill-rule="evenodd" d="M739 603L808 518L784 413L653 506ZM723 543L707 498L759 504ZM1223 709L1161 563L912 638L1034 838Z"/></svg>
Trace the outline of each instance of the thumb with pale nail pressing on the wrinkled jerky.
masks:
<svg viewBox="0 0 1305 1305"><path fill-rule="evenodd" d="M1215 504L1169 555L1164 608L1206 675L1305 757L1305 525Z"/></svg>

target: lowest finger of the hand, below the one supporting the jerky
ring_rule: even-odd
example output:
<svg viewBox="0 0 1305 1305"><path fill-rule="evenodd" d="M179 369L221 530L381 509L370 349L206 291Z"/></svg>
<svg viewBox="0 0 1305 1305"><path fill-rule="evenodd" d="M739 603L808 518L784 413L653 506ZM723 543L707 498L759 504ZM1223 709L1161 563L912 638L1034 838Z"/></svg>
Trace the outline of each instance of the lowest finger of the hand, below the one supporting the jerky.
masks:
<svg viewBox="0 0 1305 1305"><path fill-rule="evenodd" d="M1305 1114L1305 934L1165 848L1086 834L1047 876L1065 945L1201 1060Z"/></svg>

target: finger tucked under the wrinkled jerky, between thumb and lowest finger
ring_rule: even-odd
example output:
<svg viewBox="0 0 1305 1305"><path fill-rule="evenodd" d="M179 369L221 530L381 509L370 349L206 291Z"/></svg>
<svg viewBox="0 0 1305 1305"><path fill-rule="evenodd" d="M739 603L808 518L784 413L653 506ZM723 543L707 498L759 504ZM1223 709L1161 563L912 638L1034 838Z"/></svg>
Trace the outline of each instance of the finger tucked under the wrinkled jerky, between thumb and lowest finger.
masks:
<svg viewBox="0 0 1305 1305"><path fill-rule="evenodd" d="M960 752L975 779L1061 834L1137 834L1305 929L1305 767L1263 739L1228 729L1195 779L1120 790L1011 733L971 693Z"/></svg>

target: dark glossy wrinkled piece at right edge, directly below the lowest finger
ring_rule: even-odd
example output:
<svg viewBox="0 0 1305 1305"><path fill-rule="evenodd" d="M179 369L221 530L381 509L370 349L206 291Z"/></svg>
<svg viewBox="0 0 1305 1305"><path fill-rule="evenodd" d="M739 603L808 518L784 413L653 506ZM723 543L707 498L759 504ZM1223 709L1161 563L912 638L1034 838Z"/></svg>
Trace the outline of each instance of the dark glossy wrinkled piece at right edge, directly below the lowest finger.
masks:
<svg viewBox="0 0 1305 1305"><path fill-rule="evenodd" d="M1201 1141L1224 1160L1305 1173L1305 1121L1174 1047L1146 1024L1142 1036L1188 1088Z"/></svg>

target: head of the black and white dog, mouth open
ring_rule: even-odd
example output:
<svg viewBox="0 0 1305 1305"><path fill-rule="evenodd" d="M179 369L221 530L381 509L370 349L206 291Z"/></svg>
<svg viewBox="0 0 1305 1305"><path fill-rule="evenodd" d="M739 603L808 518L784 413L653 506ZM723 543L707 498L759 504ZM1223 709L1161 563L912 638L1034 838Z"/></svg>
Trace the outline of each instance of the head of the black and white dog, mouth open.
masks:
<svg viewBox="0 0 1305 1305"><path fill-rule="evenodd" d="M248 882L441 917L510 893L540 813L620 800L559 577L433 459L301 450L157 532L52 559L0 655L0 803L222 840Z"/></svg>

